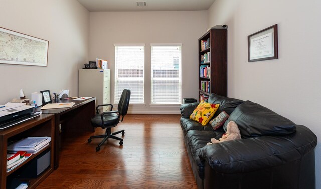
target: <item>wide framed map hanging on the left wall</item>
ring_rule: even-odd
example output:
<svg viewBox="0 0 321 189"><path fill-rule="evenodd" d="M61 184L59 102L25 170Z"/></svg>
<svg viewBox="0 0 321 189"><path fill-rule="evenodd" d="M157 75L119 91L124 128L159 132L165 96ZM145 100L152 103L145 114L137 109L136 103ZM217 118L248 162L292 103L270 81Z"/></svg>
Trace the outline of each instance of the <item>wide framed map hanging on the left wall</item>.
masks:
<svg viewBox="0 0 321 189"><path fill-rule="evenodd" d="M0 27L0 63L47 66L49 41Z"/></svg>

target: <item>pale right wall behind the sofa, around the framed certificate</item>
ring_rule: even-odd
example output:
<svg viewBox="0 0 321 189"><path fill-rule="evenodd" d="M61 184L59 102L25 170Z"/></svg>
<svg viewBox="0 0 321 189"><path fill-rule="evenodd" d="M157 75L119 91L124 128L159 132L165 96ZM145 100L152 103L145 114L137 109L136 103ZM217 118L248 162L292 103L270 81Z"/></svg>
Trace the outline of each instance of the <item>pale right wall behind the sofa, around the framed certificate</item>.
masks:
<svg viewBox="0 0 321 189"><path fill-rule="evenodd" d="M320 139L321 1L216 0L209 25L228 25L228 96L251 100L309 127ZM279 59L248 63L247 36L278 24ZM316 146L316 188L321 188Z"/></svg>

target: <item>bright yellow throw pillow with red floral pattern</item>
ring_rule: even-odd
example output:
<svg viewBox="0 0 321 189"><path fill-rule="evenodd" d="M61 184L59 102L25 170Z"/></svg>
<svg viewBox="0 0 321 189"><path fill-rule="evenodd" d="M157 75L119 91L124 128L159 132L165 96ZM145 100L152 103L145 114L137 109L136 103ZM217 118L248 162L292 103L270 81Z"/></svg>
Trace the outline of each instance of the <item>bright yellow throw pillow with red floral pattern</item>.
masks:
<svg viewBox="0 0 321 189"><path fill-rule="evenodd" d="M194 109L193 113L190 116L190 119L195 120L205 126L211 120L219 106L220 104L206 103L202 100L200 104Z"/></svg>

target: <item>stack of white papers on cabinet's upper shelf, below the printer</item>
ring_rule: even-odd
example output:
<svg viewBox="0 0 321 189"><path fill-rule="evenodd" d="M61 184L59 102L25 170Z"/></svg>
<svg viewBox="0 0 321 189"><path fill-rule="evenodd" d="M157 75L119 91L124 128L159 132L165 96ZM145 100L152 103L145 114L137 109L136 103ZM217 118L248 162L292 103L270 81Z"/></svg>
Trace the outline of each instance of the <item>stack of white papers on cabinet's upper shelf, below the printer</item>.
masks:
<svg viewBox="0 0 321 189"><path fill-rule="evenodd" d="M7 153L16 153L17 151L26 151L35 154L49 145L50 137L28 137L19 140L7 148Z"/></svg>

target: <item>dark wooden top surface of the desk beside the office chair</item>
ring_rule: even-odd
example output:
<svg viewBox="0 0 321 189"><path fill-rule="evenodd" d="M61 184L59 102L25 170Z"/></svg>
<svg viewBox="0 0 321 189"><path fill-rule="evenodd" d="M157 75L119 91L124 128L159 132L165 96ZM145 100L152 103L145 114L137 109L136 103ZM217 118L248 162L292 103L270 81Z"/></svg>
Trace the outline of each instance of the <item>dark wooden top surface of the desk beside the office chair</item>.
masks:
<svg viewBox="0 0 321 189"><path fill-rule="evenodd" d="M92 97L92 98L89 98L89 99L85 99L85 100L82 100L82 101L78 101L78 100L73 100L73 99L63 99L63 100L59 100L57 103L68 103L68 102L74 102L75 105L72 106L72 107L66 107L66 108L57 108L57 109L43 109L41 110L40 108L41 107L38 107L37 109L35 109L35 111L42 111L42 113L44 114L48 114L48 113L52 113L52 114L62 114L62 113L66 113L68 111L71 111L79 106L82 106L86 103L89 103L89 102L92 102L92 101L95 101L96 98L95 97Z"/></svg>

